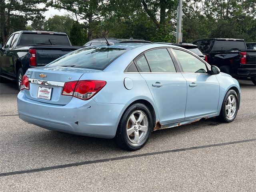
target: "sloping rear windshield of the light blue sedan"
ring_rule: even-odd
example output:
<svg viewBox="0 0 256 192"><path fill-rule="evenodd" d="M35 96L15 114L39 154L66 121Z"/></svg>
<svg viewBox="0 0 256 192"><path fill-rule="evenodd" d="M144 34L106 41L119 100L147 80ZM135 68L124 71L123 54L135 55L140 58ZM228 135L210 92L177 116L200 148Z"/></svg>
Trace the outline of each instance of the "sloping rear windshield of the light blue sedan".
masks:
<svg viewBox="0 0 256 192"><path fill-rule="evenodd" d="M53 61L48 66L104 70L126 51L127 49L108 47L82 48Z"/></svg>

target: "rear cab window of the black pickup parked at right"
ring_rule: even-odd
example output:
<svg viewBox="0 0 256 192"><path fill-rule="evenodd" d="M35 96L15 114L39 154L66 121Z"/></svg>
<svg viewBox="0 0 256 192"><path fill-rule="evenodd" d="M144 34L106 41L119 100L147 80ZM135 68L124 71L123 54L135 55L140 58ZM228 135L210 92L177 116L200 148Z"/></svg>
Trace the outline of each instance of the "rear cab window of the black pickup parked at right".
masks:
<svg viewBox="0 0 256 192"><path fill-rule="evenodd" d="M212 50L243 50L246 46L243 41L216 41Z"/></svg>

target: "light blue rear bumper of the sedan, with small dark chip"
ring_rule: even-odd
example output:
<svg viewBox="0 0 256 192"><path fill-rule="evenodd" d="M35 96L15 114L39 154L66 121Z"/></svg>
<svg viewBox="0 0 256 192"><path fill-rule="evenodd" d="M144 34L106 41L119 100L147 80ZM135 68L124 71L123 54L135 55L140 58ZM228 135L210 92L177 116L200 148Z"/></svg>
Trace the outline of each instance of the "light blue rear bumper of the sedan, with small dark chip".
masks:
<svg viewBox="0 0 256 192"><path fill-rule="evenodd" d="M78 98L58 106L28 99L23 91L18 94L18 114L25 122L84 136L113 138L125 108L125 104L102 104Z"/></svg>

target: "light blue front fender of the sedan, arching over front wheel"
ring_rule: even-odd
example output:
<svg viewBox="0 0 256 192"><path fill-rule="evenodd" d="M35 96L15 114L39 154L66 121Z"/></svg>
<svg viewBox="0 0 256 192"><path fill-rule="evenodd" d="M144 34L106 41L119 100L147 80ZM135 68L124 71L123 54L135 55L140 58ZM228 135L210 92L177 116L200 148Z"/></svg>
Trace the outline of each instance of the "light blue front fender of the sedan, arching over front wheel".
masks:
<svg viewBox="0 0 256 192"><path fill-rule="evenodd" d="M239 90L240 103L241 103L241 90L240 90L240 85L239 85L238 81L232 77L225 76L221 73L216 75L216 78L220 83L220 100L219 100L219 105L218 105L218 113L220 113L222 102L224 100L226 93L232 87L236 87Z"/></svg>

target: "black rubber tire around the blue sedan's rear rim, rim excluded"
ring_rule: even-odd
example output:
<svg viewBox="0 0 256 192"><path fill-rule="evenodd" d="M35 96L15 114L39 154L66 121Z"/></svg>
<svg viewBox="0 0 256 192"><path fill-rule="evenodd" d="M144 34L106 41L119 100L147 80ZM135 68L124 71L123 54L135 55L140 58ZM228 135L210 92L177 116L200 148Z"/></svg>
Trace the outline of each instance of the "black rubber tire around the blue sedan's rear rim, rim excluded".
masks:
<svg viewBox="0 0 256 192"><path fill-rule="evenodd" d="M126 123L128 118L130 117L130 115L136 111L136 110L141 110L143 111L147 118L148 118L148 132L146 134L146 137L144 138L144 140L138 144L134 144L132 143L129 139L128 136L126 134ZM124 148L126 150L138 150L140 148L142 148L146 142L148 141L148 138L152 132L153 129L153 118L152 118L152 114L150 112L150 110L148 109L148 107L142 103L136 103L136 104L132 104L129 108L127 108L127 110L124 112L119 125L118 125L118 129L116 132L116 143L121 147ZM121 142L121 144L120 144Z"/></svg>

